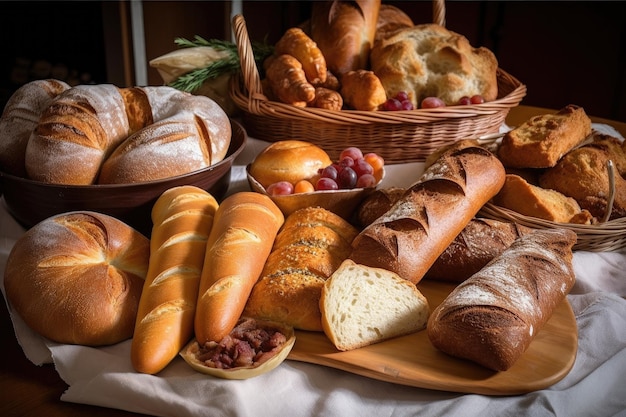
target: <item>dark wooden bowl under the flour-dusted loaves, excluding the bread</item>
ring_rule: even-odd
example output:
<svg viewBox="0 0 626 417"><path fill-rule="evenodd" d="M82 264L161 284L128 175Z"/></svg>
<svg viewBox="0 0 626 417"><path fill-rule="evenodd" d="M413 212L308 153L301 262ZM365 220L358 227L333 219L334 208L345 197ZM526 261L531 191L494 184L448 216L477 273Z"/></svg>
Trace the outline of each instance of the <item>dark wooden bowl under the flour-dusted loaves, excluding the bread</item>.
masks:
<svg viewBox="0 0 626 417"><path fill-rule="evenodd" d="M195 185L210 192L218 201L224 197L233 162L247 139L239 123L232 121L231 124L233 134L226 157L189 174L137 184L58 185L0 171L0 191L9 213L26 228L56 214L89 210L116 217L149 237L152 206L165 190Z"/></svg>

